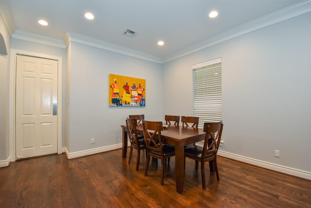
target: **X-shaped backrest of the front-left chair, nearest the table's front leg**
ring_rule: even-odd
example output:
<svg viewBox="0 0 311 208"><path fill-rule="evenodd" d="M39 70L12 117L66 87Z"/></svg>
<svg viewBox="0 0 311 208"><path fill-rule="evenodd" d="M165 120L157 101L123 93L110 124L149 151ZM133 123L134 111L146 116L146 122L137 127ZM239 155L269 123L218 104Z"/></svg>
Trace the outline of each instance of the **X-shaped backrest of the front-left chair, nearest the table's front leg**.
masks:
<svg viewBox="0 0 311 208"><path fill-rule="evenodd" d="M162 121L146 121L142 122L144 130L144 139L146 147L149 151L157 151L163 153L161 131L163 130Z"/></svg>

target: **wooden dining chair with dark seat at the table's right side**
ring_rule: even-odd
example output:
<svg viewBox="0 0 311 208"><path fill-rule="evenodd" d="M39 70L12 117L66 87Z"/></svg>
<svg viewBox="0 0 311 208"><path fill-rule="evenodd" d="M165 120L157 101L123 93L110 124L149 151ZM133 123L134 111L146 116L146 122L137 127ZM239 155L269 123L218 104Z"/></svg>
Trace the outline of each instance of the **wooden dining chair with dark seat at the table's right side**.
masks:
<svg viewBox="0 0 311 208"><path fill-rule="evenodd" d="M207 161L213 161L214 169L216 171L217 181L219 181L219 173L217 167L217 151L223 132L223 123L204 123L203 131L205 133L204 146L194 145L185 148L186 157L195 160L195 169L198 170L199 162L201 162L202 187L206 189L205 183L205 169L204 164ZM186 162L185 162L186 164Z"/></svg>

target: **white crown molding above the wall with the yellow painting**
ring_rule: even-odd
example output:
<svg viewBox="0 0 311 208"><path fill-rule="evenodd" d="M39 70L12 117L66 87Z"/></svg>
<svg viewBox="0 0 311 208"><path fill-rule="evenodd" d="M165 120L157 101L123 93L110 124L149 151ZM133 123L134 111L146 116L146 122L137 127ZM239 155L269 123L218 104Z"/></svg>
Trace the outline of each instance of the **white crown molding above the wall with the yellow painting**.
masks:
<svg viewBox="0 0 311 208"><path fill-rule="evenodd" d="M96 38L90 38L88 36L80 35L80 34L73 33L73 32L66 32L64 41L65 41L66 46L68 46L70 41L77 42L77 43L81 43L84 45L101 48L104 50L116 52L119 54L124 54L124 55L131 56L131 57L137 57L140 59L153 61L156 63L162 63L162 59L160 57L152 56L152 55L142 53L140 51L136 51L130 48L126 48L126 47L123 47L117 44L113 44L113 43L99 40Z"/></svg>

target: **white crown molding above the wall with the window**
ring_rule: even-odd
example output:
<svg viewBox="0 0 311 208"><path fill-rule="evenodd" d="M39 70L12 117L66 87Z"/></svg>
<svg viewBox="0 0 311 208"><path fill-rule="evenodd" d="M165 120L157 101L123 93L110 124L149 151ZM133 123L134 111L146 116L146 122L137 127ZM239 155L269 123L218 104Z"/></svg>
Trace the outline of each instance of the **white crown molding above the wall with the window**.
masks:
<svg viewBox="0 0 311 208"><path fill-rule="evenodd" d="M214 37L208 38L200 43L192 45L191 47L185 48L175 54L164 57L162 59L162 63L174 60L179 57L183 57L194 52L200 51L212 45L216 45L218 43L224 42L231 38L236 38L238 36L242 36L244 34L250 33L252 31L258 30L260 28L267 27L269 25L284 21L286 19L291 19L297 17L299 15L303 15L311 11L311 0L305 0L289 6L287 8L278 10L269 15L260 17L258 19L249 21L245 24L239 25L231 30L227 30L223 33L220 33Z"/></svg>

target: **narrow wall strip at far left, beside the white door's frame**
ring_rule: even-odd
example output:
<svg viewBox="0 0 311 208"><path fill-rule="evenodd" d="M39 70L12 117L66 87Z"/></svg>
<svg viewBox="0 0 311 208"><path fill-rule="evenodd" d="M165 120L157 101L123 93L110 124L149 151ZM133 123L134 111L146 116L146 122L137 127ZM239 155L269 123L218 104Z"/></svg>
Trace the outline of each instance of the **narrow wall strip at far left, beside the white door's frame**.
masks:
<svg viewBox="0 0 311 208"><path fill-rule="evenodd" d="M0 55L0 167L9 163L9 62L11 36L0 16L0 34L4 39L8 55Z"/></svg>

